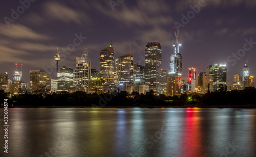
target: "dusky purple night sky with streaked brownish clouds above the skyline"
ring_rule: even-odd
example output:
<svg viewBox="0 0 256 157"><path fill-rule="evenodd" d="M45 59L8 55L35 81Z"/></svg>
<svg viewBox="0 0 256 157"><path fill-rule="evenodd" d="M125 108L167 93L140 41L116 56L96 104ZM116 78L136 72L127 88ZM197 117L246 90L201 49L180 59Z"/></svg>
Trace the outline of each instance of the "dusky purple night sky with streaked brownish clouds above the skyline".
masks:
<svg viewBox="0 0 256 157"><path fill-rule="evenodd" d="M105 0L105 1L1 1L0 73L10 79L15 63L29 70L46 69L56 75L54 55L59 47L59 67L75 67L83 41L92 67L99 69L99 51L113 40L115 58L134 50L134 60L144 64L147 42L160 42L162 67L169 69L174 52L174 26L180 25L182 75L188 67L206 71L211 64L228 66L227 82L243 73L248 61L256 76L255 0Z"/></svg>

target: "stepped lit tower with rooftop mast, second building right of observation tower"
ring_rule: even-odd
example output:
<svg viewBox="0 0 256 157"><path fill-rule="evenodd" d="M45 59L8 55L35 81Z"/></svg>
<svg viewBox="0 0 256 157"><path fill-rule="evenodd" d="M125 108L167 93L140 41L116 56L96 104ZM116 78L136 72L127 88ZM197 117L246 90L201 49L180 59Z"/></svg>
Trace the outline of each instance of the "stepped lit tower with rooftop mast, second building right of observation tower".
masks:
<svg viewBox="0 0 256 157"><path fill-rule="evenodd" d="M88 92L88 84L91 78L91 62L88 61L88 49L84 48L82 56L76 58L76 68L74 70L73 86L75 91Z"/></svg>

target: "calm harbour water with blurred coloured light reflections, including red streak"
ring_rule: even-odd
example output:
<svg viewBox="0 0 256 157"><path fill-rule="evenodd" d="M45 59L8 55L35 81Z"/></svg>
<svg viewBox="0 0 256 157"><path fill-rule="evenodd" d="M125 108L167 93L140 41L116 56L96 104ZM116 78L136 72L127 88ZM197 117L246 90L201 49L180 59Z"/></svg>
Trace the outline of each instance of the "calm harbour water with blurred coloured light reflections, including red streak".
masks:
<svg viewBox="0 0 256 157"><path fill-rule="evenodd" d="M8 155L3 151L0 156L256 156L256 109L14 108Z"/></svg>

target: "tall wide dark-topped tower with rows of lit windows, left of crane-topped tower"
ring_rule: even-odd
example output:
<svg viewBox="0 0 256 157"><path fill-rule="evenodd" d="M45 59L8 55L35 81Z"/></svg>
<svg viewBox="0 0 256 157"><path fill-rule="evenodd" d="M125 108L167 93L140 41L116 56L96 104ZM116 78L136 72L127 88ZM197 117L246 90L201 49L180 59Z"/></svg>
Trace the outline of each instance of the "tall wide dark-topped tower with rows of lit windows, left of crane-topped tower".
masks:
<svg viewBox="0 0 256 157"><path fill-rule="evenodd" d="M145 84L161 93L162 50L158 42L148 42L145 49Z"/></svg>

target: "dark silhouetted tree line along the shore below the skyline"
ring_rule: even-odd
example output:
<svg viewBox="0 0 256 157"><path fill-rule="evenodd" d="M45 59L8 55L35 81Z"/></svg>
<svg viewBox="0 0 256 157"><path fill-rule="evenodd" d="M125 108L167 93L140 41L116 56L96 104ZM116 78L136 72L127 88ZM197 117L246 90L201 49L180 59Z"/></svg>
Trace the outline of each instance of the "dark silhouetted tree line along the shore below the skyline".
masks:
<svg viewBox="0 0 256 157"><path fill-rule="evenodd" d="M192 93L166 96L154 94L153 91L146 94L121 91L115 94L87 94L77 91L53 94L18 94L9 96L10 93L0 91L0 98L8 99L8 104L13 106L83 106L83 107L121 107L121 106L241 106L256 104L256 89L249 87L244 90L232 90L230 92L208 92L207 94ZM3 101L4 102L4 101ZM2 102L1 102L2 103Z"/></svg>

